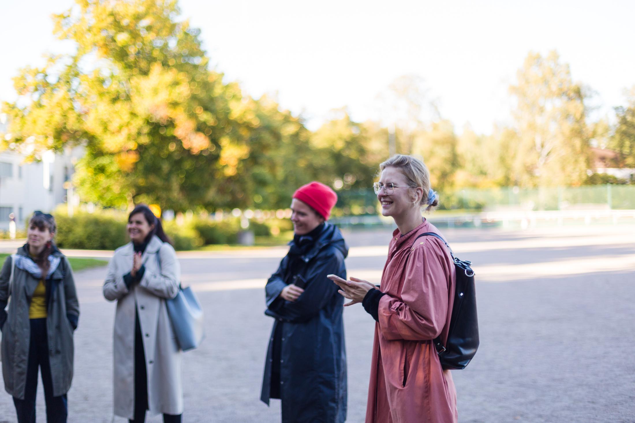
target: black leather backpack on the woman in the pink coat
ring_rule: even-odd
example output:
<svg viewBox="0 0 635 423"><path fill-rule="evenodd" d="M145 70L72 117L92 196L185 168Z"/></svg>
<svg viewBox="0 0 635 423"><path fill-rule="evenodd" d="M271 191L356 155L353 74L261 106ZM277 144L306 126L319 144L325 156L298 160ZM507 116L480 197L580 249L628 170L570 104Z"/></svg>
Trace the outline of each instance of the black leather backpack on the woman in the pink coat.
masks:
<svg viewBox="0 0 635 423"><path fill-rule="evenodd" d="M476 317L476 289L474 287L474 271L471 261L461 261L454 256L450 245L434 232L419 235L415 241L426 235L439 238L450 250L457 271L457 285L454 294L454 305L450 318L448 342L444 346L441 337L434 339L434 347L439 355L444 370L461 370L467 366L478 349L478 318ZM413 244L414 245L414 244Z"/></svg>

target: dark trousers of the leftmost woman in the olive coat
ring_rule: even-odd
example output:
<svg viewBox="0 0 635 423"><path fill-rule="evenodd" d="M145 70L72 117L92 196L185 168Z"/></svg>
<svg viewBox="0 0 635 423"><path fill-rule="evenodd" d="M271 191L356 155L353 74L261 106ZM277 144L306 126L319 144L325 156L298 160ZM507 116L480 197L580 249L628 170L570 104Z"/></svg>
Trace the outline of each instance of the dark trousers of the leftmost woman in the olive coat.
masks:
<svg viewBox="0 0 635 423"><path fill-rule="evenodd" d="M27 381L24 399L13 397L18 423L36 423L37 368L42 369L44 385L44 401L46 402L46 422L65 423L68 415L66 394L53 396L53 378L48 355L48 338L46 336L46 318L30 320L29 363L27 364Z"/></svg>

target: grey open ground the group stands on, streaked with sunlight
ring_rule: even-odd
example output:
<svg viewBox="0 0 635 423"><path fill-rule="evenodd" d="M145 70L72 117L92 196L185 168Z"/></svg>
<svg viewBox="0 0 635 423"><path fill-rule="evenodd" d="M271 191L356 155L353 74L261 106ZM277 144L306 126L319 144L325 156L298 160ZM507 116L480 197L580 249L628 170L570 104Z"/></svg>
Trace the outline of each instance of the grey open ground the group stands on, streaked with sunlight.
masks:
<svg viewBox="0 0 635 423"><path fill-rule="evenodd" d="M481 348L453 372L459 421L635 422L633 226L509 233L447 231L478 279ZM387 231L347 235L349 275L377 282ZM185 422L279 422L279 403L258 401L272 321L262 286L283 250L185 253L184 281L206 310L207 339L185 354ZM82 306L70 422L112 419L114 304L105 269L76 275ZM349 419L363 422L373 320L347 308ZM44 421L43 395L38 397ZM15 422L0 393L0 422ZM115 419L114 421L124 421ZM148 422L159 422L152 417Z"/></svg>

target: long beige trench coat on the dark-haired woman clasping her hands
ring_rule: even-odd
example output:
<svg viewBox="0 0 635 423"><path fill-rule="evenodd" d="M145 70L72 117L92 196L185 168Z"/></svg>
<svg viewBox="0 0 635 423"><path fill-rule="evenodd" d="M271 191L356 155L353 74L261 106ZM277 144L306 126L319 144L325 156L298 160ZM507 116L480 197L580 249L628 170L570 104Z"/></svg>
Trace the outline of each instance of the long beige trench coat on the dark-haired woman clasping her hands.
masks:
<svg viewBox="0 0 635 423"><path fill-rule="evenodd" d="M132 243L119 247L108 265L104 297L117 300L114 324L114 413L132 419L135 403L135 308L144 335L150 413L183 412L182 351L177 346L165 300L178 293L181 269L170 244L154 236L142 256L144 277L128 290Z"/></svg>

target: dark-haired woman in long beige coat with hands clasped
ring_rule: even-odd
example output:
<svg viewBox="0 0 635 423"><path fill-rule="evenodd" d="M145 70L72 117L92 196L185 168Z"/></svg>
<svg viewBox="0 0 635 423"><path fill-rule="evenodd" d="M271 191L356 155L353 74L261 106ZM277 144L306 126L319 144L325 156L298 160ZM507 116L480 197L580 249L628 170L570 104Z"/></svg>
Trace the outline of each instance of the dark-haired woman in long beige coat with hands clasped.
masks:
<svg viewBox="0 0 635 423"><path fill-rule="evenodd" d="M145 412L179 423L183 412L181 356L165 300L177 296L180 265L161 221L146 205L128 218L131 242L108 266L104 297L117 301L114 325L114 413L131 423Z"/></svg>

